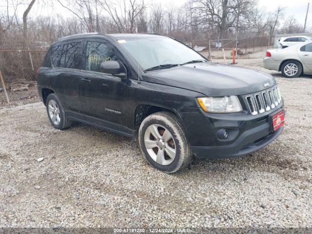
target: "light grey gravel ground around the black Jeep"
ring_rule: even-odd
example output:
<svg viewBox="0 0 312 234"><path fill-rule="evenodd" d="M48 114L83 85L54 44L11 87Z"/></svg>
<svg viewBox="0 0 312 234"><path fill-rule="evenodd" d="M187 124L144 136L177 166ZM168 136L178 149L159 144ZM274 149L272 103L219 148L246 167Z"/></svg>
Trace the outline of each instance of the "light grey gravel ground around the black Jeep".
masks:
<svg viewBox="0 0 312 234"><path fill-rule="evenodd" d="M265 70L260 59L239 65ZM53 129L42 103L0 110L0 227L312 227L312 76L267 72L285 99L283 134L174 175L126 137Z"/></svg>

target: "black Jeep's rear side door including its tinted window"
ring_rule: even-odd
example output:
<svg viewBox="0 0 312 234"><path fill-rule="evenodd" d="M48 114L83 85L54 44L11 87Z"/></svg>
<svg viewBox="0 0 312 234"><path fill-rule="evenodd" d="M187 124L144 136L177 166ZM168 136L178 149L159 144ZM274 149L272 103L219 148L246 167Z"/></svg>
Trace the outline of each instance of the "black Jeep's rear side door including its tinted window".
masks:
<svg viewBox="0 0 312 234"><path fill-rule="evenodd" d="M62 44L59 61L61 71L62 100L66 112L72 117L83 117L78 93L78 80L82 66L83 39L66 41Z"/></svg>

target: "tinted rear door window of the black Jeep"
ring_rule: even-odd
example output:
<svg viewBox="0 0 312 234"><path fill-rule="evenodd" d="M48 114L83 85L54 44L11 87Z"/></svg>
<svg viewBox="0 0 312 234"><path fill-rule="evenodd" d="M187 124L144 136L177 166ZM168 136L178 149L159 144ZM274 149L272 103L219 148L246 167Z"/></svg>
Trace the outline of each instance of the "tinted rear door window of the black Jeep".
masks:
<svg viewBox="0 0 312 234"><path fill-rule="evenodd" d="M80 67L81 62L81 42L69 42L63 45L60 58L60 67L75 68Z"/></svg>

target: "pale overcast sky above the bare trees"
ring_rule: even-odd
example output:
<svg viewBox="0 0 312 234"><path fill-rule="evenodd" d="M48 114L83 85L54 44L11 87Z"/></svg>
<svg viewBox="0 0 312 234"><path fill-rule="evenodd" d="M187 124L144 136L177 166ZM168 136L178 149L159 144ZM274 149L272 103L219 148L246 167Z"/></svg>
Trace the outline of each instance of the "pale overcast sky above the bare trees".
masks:
<svg viewBox="0 0 312 234"><path fill-rule="evenodd" d="M53 7L51 2L53 2ZM163 5L173 4L176 6L181 6L186 2L186 0L151 0L150 2L161 3ZM307 27L312 27L312 4L311 4L312 0L259 0L258 2L259 7L260 8L265 7L267 11L273 11L279 5L285 6L286 7L285 18L294 15L295 18L298 20L298 22L302 25L304 24L308 2L310 2ZM3 7L1 3L0 7L1 8ZM19 10L20 16L22 15L22 12L24 10L22 8L25 7L26 6L20 7ZM34 8L30 12L30 17L36 17L39 15L48 16L55 14L66 16L69 13L68 10L64 9L56 0L50 1L48 5L44 5L42 0L37 0L37 2L34 5Z"/></svg>

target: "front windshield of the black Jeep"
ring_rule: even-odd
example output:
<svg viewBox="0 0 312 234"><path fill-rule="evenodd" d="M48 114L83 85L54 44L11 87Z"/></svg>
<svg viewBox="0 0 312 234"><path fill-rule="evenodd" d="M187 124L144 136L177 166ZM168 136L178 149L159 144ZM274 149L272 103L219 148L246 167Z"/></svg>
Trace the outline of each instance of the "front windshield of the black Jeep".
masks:
<svg viewBox="0 0 312 234"><path fill-rule="evenodd" d="M163 64L206 60L194 50L171 38L138 38L118 42L137 60L143 70Z"/></svg>

